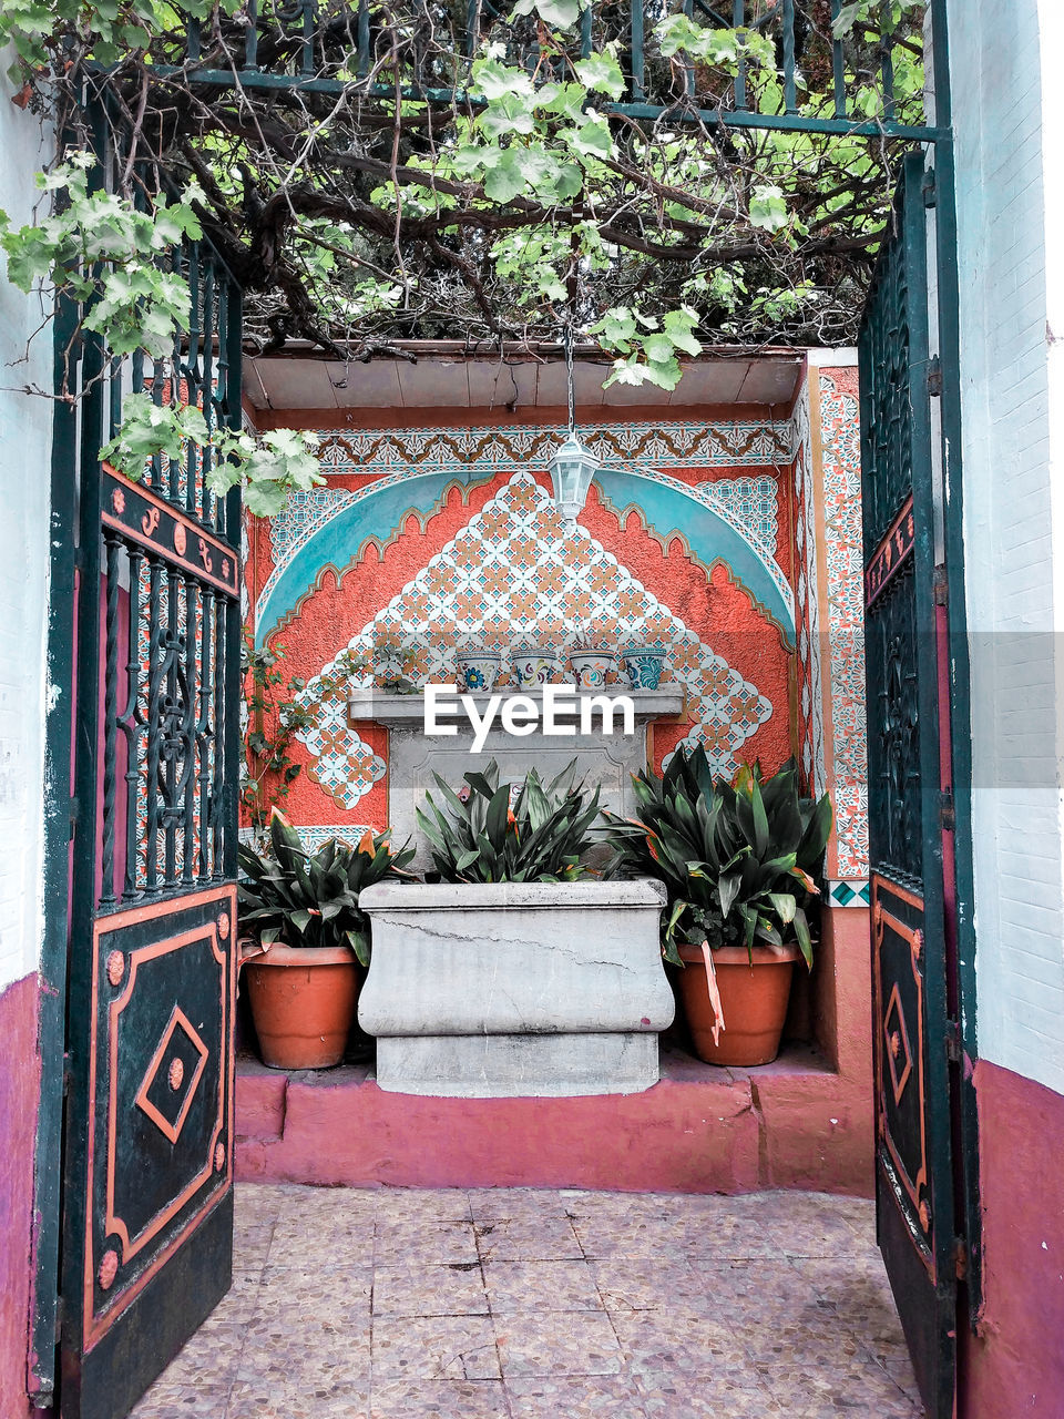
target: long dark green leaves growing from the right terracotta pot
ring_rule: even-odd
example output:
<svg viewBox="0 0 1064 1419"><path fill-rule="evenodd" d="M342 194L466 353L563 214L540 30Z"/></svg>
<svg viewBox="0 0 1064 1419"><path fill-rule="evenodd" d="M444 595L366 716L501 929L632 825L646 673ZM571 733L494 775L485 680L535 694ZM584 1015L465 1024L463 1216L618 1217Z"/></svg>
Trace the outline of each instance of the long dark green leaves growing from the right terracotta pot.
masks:
<svg viewBox="0 0 1064 1419"><path fill-rule="evenodd" d="M661 778L643 772L633 782L640 817L604 815L616 841L611 867L665 884L667 959L680 964L681 942L749 951L755 941L793 937L811 966L806 907L819 894L831 803L799 793L796 761L769 778L760 763L743 766L728 783L699 745L677 749Z"/></svg>

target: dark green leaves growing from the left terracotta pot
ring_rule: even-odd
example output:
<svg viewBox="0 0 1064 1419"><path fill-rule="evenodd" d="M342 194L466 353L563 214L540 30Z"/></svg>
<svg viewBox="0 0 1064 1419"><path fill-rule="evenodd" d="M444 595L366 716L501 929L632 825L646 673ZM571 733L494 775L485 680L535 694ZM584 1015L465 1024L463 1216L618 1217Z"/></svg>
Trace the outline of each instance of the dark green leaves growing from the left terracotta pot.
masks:
<svg viewBox="0 0 1064 1419"><path fill-rule="evenodd" d="M356 847L331 837L315 851L279 809L270 815L270 849L240 846L237 902L241 927L264 946L284 938L288 946L350 946L369 965L369 917L359 911L363 887L404 871L413 847L393 853L387 833L366 832Z"/></svg>

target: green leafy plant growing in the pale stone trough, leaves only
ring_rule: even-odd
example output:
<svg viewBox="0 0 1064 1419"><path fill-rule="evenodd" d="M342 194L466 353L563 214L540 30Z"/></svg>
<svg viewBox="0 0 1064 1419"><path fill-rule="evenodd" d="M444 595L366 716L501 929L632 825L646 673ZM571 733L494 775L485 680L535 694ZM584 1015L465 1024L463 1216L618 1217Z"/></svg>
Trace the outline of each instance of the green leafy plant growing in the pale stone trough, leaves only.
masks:
<svg viewBox="0 0 1064 1419"><path fill-rule="evenodd" d="M558 883L590 876L580 861L594 846L599 790L590 800L576 782L576 761L546 786L532 769L522 785L499 783L492 759L467 773L464 796L437 773L441 806L426 793L417 822L447 883Z"/></svg>

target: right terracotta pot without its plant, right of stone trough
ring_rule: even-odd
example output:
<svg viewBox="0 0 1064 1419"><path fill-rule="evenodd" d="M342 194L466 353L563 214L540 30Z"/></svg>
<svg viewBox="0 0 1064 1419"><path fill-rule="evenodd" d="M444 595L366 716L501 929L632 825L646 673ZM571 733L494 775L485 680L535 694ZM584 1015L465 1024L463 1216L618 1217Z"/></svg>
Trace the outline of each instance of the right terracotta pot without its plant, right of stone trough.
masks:
<svg viewBox="0 0 1064 1419"><path fill-rule="evenodd" d="M716 988L721 992L725 1029L714 1044L714 1007L705 979L701 946L681 946L680 993L691 1026L695 1053L706 1064L767 1064L779 1054L783 1022L787 1017L790 978L799 959L797 946L776 951L753 948L753 965L745 946L714 951Z"/></svg>

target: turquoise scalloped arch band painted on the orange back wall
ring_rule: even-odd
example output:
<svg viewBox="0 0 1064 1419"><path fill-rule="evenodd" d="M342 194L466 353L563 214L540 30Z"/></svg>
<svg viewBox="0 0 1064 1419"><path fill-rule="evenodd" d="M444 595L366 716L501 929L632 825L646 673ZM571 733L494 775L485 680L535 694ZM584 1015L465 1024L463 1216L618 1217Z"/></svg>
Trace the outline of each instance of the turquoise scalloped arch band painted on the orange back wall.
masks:
<svg viewBox="0 0 1064 1419"><path fill-rule="evenodd" d="M438 505L448 488L462 477L472 484L494 478L477 470L416 473L387 487L370 485L343 504L328 522L316 528L267 586L255 616L255 643L261 646L279 622L291 616L304 596L315 586L322 568L346 568L358 549L370 538L382 545L413 509ZM653 474L600 468L596 482L619 511L636 505L647 525L661 538L678 534L705 566L724 562L735 580L780 627L787 643L794 643L794 613L765 563L763 553L719 512L705 507L675 487L657 482Z"/></svg>

